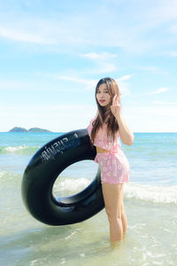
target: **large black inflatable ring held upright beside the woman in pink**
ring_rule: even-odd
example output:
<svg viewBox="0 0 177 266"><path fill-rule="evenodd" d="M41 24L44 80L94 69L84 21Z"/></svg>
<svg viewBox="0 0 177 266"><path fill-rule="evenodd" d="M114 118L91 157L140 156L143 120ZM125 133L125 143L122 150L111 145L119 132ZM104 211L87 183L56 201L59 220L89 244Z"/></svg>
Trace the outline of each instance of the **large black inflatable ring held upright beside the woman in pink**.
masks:
<svg viewBox="0 0 177 266"><path fill-rule="evenodd" d="M82 192L70 197L55 198L53 185L58 175L80 160L94 160L87 129L71 131L35 153L22 179L22 199L37 220L50 225L82 222L104 208L99 168L95 179Z"/></svg>

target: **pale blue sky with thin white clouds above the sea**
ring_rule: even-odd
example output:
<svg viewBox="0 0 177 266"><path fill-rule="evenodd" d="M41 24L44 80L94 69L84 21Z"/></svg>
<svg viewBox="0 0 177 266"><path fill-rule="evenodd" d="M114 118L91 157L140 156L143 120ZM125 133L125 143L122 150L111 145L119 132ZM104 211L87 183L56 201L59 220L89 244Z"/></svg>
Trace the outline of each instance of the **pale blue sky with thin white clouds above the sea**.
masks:
<svg viewBox="0 0 177 266"><path fill-rule="evenodd" d="M0 0L0 131L86 128L119 83L135 132L177 131L176 0Z"/></svg>

